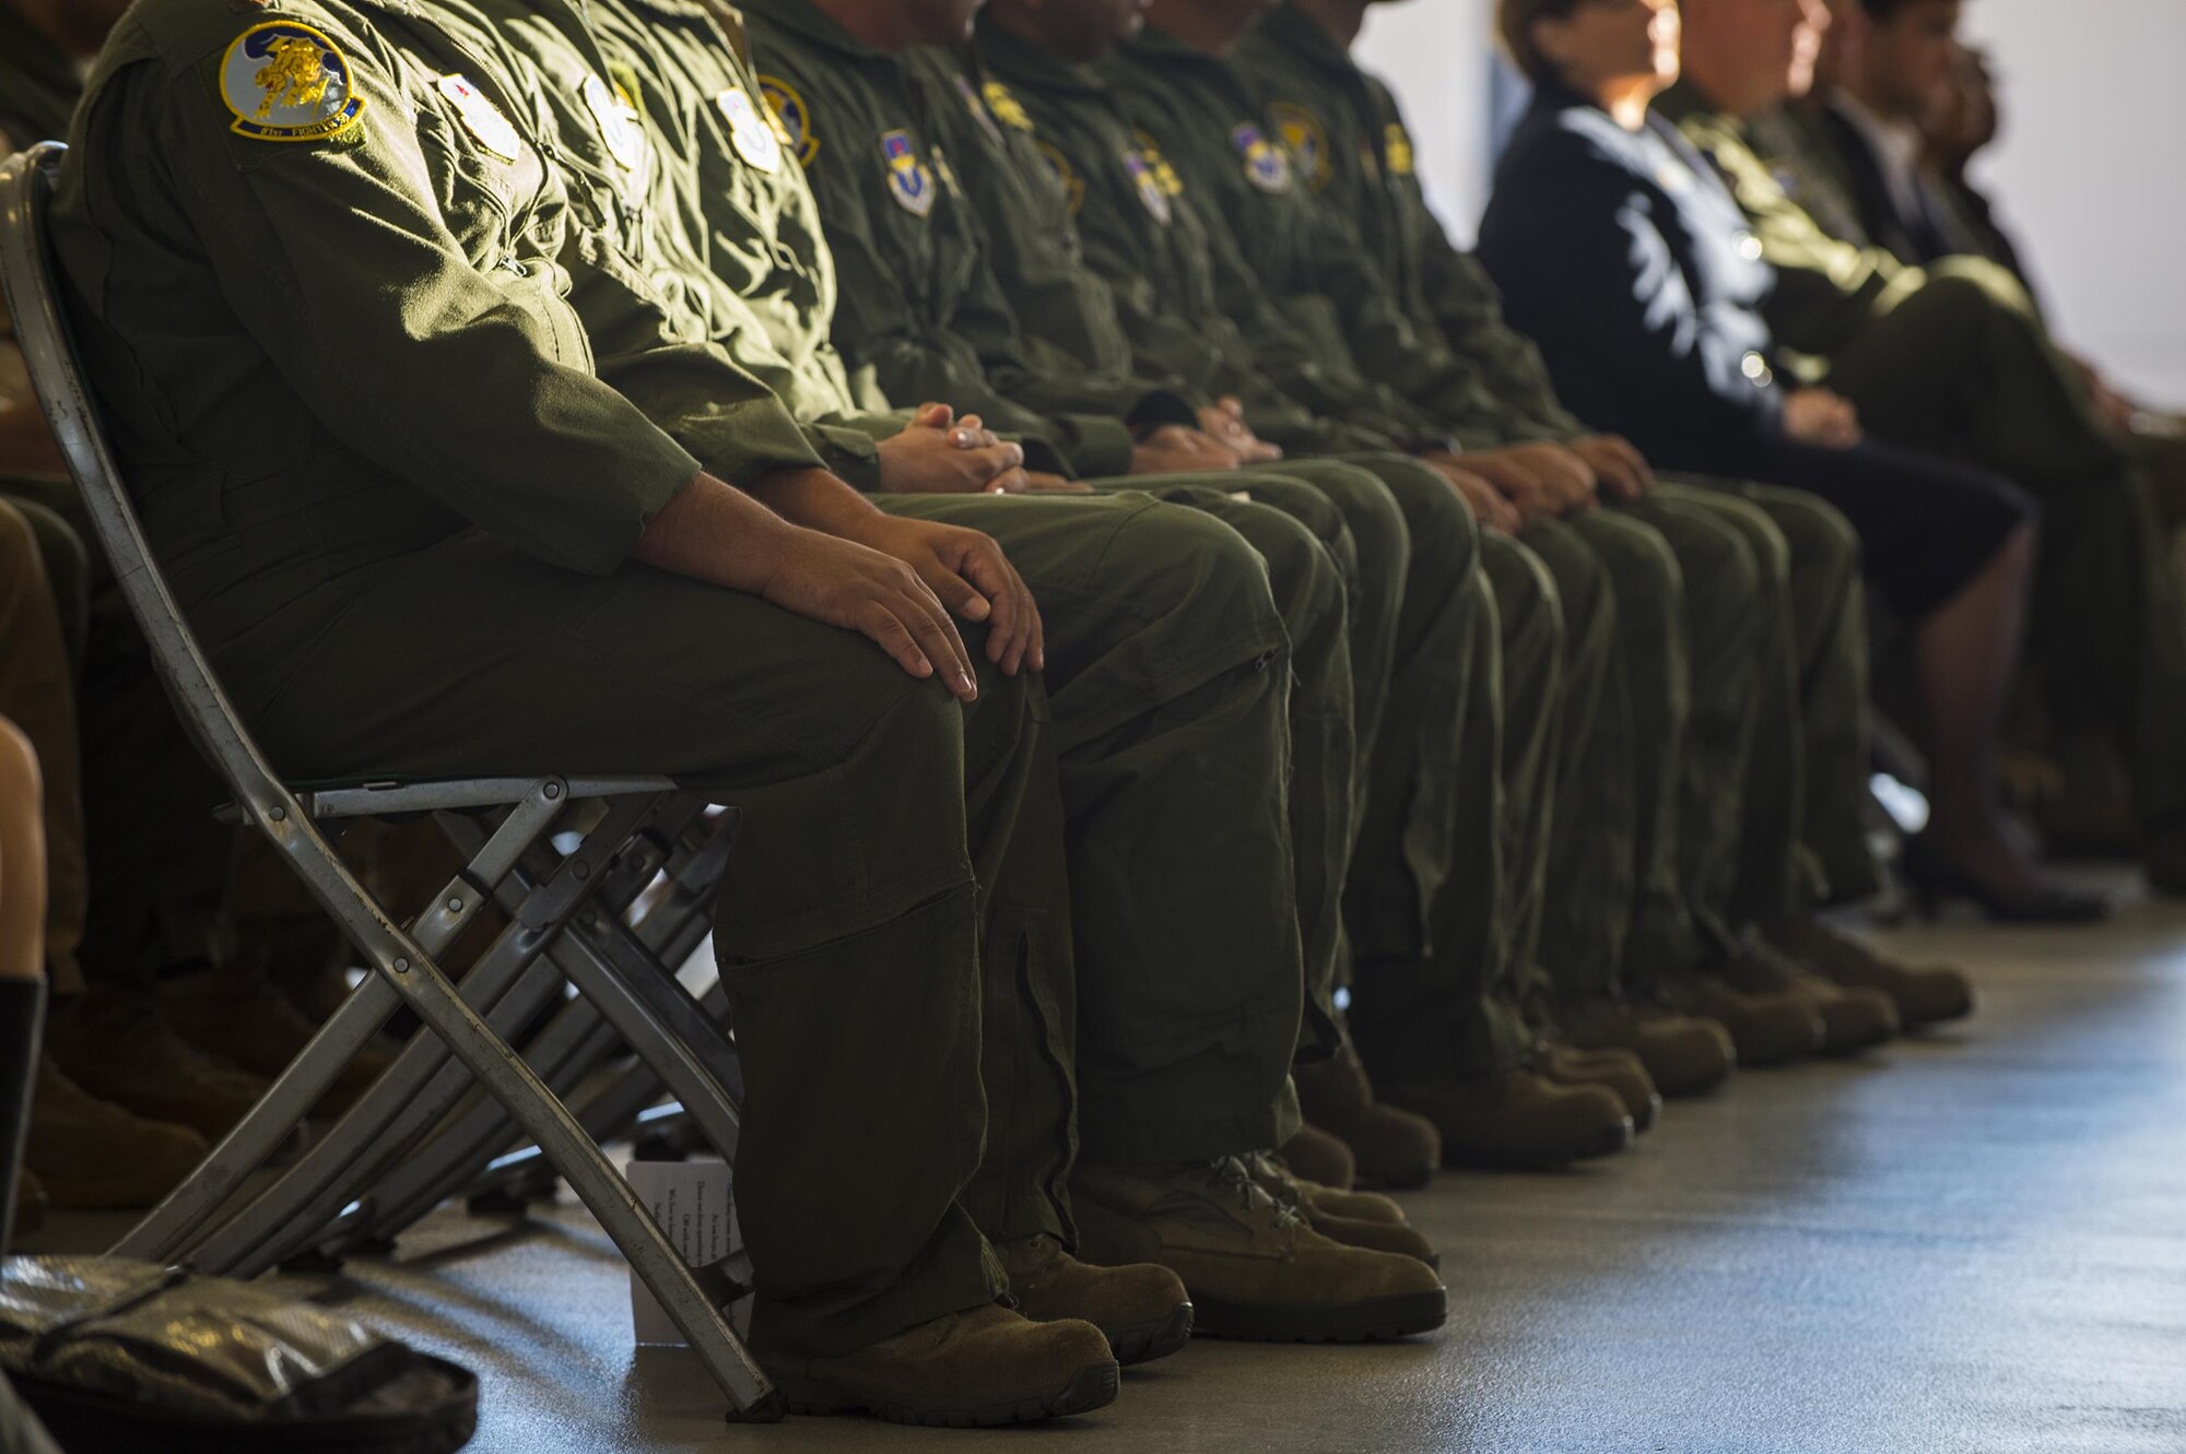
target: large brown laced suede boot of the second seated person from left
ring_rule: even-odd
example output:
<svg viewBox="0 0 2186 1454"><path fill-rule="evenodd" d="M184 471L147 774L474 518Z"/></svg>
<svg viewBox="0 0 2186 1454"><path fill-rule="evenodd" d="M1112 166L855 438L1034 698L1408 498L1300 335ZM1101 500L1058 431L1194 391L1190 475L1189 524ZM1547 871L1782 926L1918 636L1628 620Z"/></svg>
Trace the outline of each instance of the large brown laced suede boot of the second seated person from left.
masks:
<svg viewBox="0 0 2186 1454"><path fill-rule="evenodd" d="M1080 1166L1080 1253L1159 1262L1185 1279L1200 1334L1257 1343L1364 1343L1441 1327L1443 1282L1414 1258L1344 1247L1264 1192L1237 1157Z"/></svg>

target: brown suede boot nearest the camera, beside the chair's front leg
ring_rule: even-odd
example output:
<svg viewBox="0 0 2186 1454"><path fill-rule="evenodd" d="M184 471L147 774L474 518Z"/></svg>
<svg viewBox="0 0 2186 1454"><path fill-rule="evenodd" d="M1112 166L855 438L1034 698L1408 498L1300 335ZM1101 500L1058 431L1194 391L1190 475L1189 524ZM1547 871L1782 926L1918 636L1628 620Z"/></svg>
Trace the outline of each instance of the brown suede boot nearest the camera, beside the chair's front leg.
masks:
<svg viewBox="0 0 2186 1454"><path fill-rule="evenodd" d="M752 1332L752 1356L789 1413L870 1413L890 1423L995 1428L1091 1413L1121 1382L1108 1338L1080 1321L1034 1323L999 1303L951 1312L848 1354Z"/></svg>

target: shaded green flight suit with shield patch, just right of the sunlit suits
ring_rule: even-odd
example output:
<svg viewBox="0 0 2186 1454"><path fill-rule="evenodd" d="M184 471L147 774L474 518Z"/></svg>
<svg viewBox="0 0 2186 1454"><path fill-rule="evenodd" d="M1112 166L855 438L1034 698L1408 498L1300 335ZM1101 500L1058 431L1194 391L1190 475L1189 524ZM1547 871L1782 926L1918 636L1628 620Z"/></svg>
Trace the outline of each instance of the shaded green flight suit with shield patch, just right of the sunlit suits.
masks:
<svg viewBox="0 0 2186 1454"><path fill-rule="evenodd" d="M835 345L855 371L870 369L896 397L944 400L1027 439L1047 439L1062 454L1062 472L1073 476L1128 469L1135 426L1172 421L1172 410L1180 415L1176 421L1196 424L1189 402L1141 380L1095 378L1082 369L1049 373L1032 365L933 124L933 107L962 114L962 96L931 72L929 59L914 55L898 61L863 46L807 0L752 7L750 24L761 85L794 138L791 151L807 159L804 175L842 279ZM1110 413L1056 413L1062 408ZM1084 441L1110 437L1121 441L1121 458L1102 454L1095 467L1086 467ZM1292 498L1320 513L1320 496L1344 500L1347 522L1360 520L1358 533L1401 539L1395 502L1368 476L1327 463L1292 469L1309 472L1314 491L1257 474L1102 482L1154 489L1213 509L1255 544L1261 544L1264 531L1292 533L1290 520L1274 517ZM1253 500L1237 502L1231 491ZM1261 500L1277 511L1264 509ZM1377 546L1377 552L1386 548ZM1333 1039L1331 1000L1344 963L1340 895L1355 832L1358 762L1349 644L1366 637L1362 655L1388 659L1392 607L1401 589L1397 579L1364 572L1351 581L1386 603L1360 611L1349 622L1351 637L1318 631L1309 620L1316 609L1309 594L1274 581L1292 629L1296 672L1290 817L1305 993L1314 1011L1307 1017L1307 1052Z"/></svg>

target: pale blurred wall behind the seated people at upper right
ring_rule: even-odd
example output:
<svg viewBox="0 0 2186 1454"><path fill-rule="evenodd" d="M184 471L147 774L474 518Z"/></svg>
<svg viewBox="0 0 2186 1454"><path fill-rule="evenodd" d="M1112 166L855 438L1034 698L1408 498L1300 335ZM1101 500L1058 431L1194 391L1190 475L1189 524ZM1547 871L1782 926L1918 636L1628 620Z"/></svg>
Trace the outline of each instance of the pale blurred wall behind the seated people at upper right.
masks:
<svg viewBox="0 0 2186 1454"><path fill-rule="evenodd" d="M1486 205L1497 118L1524 105L1491 41L1493 0L1377 4L1366 63L1412 120L1436 210L1460 238ZM2057 312L2120 382L2186 406L2186 0L1970 0L2002 140L1976 164Z"/></svg>

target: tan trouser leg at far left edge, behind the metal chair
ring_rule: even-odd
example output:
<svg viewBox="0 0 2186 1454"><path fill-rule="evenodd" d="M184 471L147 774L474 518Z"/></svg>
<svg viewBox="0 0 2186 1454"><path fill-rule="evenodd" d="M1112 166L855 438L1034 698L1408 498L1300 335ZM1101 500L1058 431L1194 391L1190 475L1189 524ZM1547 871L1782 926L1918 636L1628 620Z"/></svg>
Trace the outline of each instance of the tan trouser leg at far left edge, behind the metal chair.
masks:
<svg viewBox="0 0 2186 1454"><path fill-rule="evenodd" d="M35 506L33 506L35 509ZM48 517L48 531L59 522ZM66 526L59 526L66 533ZM81 993L83 797L77 777L77 690L44 533L0 500L0 716L37 749L46 830L46 974L55 993Z"/></svg>

